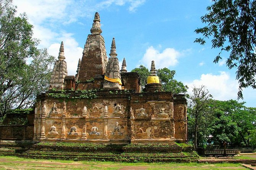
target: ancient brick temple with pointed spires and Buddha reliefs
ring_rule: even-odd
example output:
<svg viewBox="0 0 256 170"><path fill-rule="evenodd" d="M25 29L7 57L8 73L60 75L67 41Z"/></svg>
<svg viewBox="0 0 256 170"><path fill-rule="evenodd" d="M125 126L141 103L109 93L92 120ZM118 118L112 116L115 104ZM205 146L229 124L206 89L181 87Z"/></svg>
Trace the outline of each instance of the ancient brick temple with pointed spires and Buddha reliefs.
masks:
<svg viewBox="0 0 256 170"><path fill-rule="evenodd" d="M91 143L187 142L186 99L162 91L154 61L141 93L140 77L118 65L115 38L107 58L100 16L68 75L63 42L50 88L37 96L34 139ZM69 66L74 67L74 66Z"/></svg>

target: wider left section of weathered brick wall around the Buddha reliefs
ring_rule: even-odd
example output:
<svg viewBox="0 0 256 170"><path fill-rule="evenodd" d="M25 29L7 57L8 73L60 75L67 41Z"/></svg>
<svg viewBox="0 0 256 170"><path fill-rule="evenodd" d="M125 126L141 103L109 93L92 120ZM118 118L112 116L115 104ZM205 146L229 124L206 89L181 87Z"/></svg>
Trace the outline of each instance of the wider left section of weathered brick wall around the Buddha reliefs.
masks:
<svg viewBox="0 0 256 170"><path fill-rule="evenodd" d="M75 93L75 92L74 92ZM115 92L116 93L116 92ZM60 138L62 134L63 120L65 120L65 130L66 133L70 132L71 127L75 126L77 128L76 132L77 136L69 136L66 135L66 139L81 139L83 133L83 126L86 125L86 134L87 140L102 140L104 137L104 122L107 122L107 135L109 139L117 139L117 140L125 140L128 139L128 97L127 95L122 95L118 92L118 94L110 94L109 91L101 91L98 93L98 98L94 99L58 99L58 98L49 98L46 99L46 113L47 117L45 118L45 135L46 138ZM120 98L120 95L122 98ZM42 99L44 100L44 99ZM68 116L66 118L62 118L64 100L66 103L66 110ZM51 109L53 107L53 103L56 103L55 107L57 107L57 114L51 114ZM42 103L42 102L41 102ZM122 116L115 117L113 112L115 110L115 106L120 104L122 107ZM87 117L83 117L83 108L87 107ZM104 107L108 106L108 116L104 117ZM37 107L40 107L37 105ZM42 106L41 106L42 107ZM38 119L40 120L40 114L37 114ZM119 123L120 126L120 134L113 133L116 127L116 123ZM50 127L54 125L57 128L58 135L51 136L47 135L50 132ZM42 127L42 121L39 122L37 120L37 127ZM100 135L90 135L89 133L92 131L92 127L97 127ZM40 138L41 128L37 128L37 137Z"/></svg>

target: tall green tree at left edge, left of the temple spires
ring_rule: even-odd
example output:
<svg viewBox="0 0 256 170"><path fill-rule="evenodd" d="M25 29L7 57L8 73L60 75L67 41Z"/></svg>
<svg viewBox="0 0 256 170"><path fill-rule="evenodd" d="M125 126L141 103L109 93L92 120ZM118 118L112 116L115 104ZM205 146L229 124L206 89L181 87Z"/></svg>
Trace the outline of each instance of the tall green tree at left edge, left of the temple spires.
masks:
<svg viewBox="0 0 256 170"><path fill-rule="evenodd" d="M53 64L45 49L37 49L26 15L16 16L7 2L0 1L0 116L31 106L46 90Z"/></svg>

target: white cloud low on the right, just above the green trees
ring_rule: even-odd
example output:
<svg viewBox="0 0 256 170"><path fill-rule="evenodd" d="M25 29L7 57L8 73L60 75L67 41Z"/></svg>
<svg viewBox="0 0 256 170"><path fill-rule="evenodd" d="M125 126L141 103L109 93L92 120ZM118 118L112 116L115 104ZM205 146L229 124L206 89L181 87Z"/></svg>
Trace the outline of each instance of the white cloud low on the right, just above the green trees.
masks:
<svg viewBox="0 0 256 170"><path fill-rule="evenodd" d="M185 84L189 87L189 94L192 93L193 86L199 87L204 85L214 99L237 99L238 83L237 81L230 79L230 75L224 71L220 72L219 75L213 75L211 73L202 74L199 80L193 80L193 82Z"/></svg>

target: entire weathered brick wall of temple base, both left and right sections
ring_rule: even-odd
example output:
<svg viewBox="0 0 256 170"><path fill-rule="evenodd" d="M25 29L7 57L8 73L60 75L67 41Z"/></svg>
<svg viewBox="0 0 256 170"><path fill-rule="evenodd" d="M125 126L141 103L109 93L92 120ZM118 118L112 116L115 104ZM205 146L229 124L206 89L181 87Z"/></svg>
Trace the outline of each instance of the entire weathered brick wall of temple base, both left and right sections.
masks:
<svg viewBox="0 0 256 170"><path fill-rule="evenodd" d="M55 92L57 93L57 92ZM60 138L63 122L65 133L70 132L71 127L77 128L78 136L65 135L66 139L81 139L83 126L86 125L87 140L103 140L104 129L107 125L107 136L110 140L128 140L133 133L134 139L181 139L186 141L186 99L184 95L173 98L170 92L134 93L133 90L98 90L97 98L78 98L81 91L68 91L70 98L50 98L47 95L39 96L37 103L36 131L37 138L41 136L42 101L46 101L45 136L48 136L50 127L55 125ZM41 101L41 102L40 102ZM62 117L64 101L68 116ZM56 103L58 113L51 114L53 103ZM115 106L122 107L122 115L115 115ZM87 117L83 117L83 108L87 107ZM105 117L104 108L108 107L108 117ZM164 110L163 110L164 109ZM141 116L141 113L144 115ZM134 119L130 120L130 117ZM120 134L114 133L117 122L120 126ZM99 136L89 133L92 127L97 127ZM106 132L105 132L106 133Z"/></svg>

